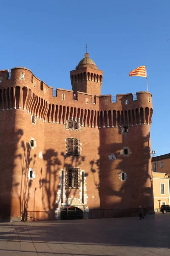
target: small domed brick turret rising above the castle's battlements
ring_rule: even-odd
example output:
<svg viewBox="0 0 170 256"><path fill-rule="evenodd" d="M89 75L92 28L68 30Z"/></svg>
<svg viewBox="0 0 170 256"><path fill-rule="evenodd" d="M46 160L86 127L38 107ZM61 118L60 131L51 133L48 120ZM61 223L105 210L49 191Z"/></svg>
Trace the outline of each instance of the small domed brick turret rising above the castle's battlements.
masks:
<svg viewBox="0 0 170 256"><path fill-rule="evenodd" d="M70 72L71 85L74 93L78 91L90 95L101 95L103 71L98 70L94 61L85 53L75 70Z"/></svg>

